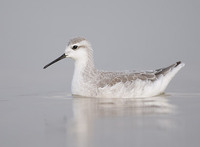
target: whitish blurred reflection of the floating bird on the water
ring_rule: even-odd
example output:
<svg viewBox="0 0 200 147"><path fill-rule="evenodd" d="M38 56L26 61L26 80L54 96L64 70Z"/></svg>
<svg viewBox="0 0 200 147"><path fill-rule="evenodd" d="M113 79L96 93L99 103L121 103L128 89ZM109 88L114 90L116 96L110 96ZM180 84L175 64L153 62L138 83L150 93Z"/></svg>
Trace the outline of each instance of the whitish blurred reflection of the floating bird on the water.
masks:
<svg viewBox="0 0 200 147"><path fill-rule="evenodd" d="M169 103L166 96L150 98L83 98L73 99L73 119L68 123L68 141L76 143L76 146L92 146L95 136L96 123L99 119L118 118L116 121L126 121L123 118L133 118L133 127L144 125L157 125L160 128L168 129L174 126L173 120L154 116L166 116L174 114L176 107ZM144 116L152 116L153 123L144 122ZM110 124L112 125L112 124ZM134 126L136 125L136 126ZM109 128L109 126L105 126ZM151 127L151 126L150 126ZM73 141L72 141L73 140ZM71 145L70 143L70 145Z"/></svg>

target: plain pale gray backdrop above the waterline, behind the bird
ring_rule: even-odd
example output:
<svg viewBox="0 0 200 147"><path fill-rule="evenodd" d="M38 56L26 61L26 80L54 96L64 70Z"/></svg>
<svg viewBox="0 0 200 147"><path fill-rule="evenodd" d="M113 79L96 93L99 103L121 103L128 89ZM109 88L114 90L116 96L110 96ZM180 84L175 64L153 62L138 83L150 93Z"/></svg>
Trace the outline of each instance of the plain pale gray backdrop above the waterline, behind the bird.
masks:
<svg viewBox="0 0 200 147"><path fill-rule="evenodd" d="M199 92L199 8L198 0L1 0L0 86L70 93L72 61L42 67L83 36L98 68L156 69L181 60L186 67L167 91Z"/></svg>

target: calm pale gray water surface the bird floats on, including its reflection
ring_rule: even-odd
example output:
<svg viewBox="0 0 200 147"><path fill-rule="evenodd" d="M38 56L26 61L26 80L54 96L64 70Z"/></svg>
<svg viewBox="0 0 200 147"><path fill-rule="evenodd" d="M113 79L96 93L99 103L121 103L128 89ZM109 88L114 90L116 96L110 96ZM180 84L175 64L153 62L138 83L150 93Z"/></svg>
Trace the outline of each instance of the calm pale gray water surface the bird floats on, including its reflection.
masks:
<svg viewBox="0 0 200 147"><path fill-rule="evenodd" d="M65 93L1 98L0 146L199 146L200 94L96 99Z"/></svg>

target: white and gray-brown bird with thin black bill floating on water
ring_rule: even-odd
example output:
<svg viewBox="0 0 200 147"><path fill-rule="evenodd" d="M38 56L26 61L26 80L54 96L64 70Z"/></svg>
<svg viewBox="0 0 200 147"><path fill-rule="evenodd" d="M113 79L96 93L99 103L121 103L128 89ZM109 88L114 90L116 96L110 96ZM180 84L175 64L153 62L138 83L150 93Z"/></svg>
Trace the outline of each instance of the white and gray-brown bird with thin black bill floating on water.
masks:
<svg viewBox="0 0 200 147"><path fill-rule="evenodd" d="M66 57L75 61L72 95L94 98L145 98L161 95L172 78L185 66L178 61L156 70L98 70L94 64L91 43L83 37L76 37L69 41L64 54L44 66L44 69Z"/></svg>

